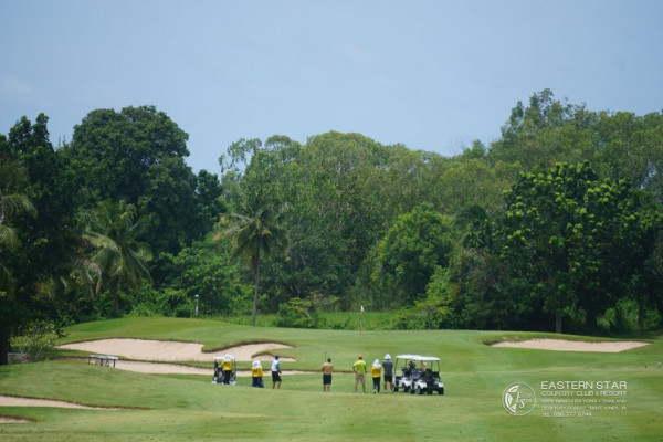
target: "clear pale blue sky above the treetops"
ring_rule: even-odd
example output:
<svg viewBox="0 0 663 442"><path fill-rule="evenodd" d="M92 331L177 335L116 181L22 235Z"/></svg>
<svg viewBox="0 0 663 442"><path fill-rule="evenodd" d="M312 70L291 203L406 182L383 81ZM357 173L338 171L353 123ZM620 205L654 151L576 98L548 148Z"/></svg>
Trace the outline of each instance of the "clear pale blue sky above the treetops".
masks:
<svg viewBox="0 0 663 442"><path fill-rule="evenodd" d="M240 138L337 130L455 155L550 88L663 108L661 0L0 0L0 133L155 105L194 171Z"/></svg>

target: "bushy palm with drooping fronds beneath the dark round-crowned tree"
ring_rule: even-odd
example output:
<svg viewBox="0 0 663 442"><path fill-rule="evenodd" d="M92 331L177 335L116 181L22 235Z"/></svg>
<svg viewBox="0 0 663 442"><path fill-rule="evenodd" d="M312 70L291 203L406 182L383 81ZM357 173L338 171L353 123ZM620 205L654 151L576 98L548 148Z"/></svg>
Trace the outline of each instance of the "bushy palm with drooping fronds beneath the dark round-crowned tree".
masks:
<svg viewBox="0 0 663 442"><path fill-rule="evenodd" d="M115 314L118 312L118 293L122 287L136 288L150 281L145 263L151 260L149 245L139 242L146 220L126 201L103 201L83 214L84 243L92 248L88 264L96 274L96 293L108 288L113 295Z"/></svg>

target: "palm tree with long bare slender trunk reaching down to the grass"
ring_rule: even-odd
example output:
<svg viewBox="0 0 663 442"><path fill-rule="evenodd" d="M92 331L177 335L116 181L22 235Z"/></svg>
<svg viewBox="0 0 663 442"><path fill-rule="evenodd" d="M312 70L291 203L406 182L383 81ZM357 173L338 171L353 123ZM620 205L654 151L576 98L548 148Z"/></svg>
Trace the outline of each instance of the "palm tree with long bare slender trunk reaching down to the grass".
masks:
<svg viewBox="0 0 663 442"><path fill-rule="evenodd" d="M285 231L280 219L285 207L275 208L262 189L252 189L244 194L239 210L222 214L213 235L215 241L229 239L236 256L249 264L253 276L253 309L251 325L255 327L257 293L260 287L260 260L275 249L284 246Z"/></svg>

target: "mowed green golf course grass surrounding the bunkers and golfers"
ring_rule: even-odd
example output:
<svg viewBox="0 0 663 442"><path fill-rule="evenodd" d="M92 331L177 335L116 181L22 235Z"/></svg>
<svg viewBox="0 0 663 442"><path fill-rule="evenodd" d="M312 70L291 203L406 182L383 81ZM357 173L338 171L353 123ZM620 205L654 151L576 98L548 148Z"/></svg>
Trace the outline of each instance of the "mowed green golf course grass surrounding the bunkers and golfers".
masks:
<svg viewBox="0 0 663 442"><path fill-rule="evenodd" d="M660 336L639 349L599 354L492 348L484 344L503 337L550 337L505 332L299 330L172 318L88 323L67 332L60 344L131 337L196 341L213 350L239 343L278 341L294 346L282 354L297 359L283 364L284 369L316 372L285 373L282 389L272 390L252 389L248 378L240 378L236 387L212 385L211 367L207 377L136 373L87 365L86 360L0 367L0 394L116 408L0 407L2 417L32 420L0 424L0 440L663 440ZM361 354L370 362L381 360L386 352L439 356L446 394L354 393L348 371L356 356ZM325 355L333 358L337 370L332 393L323 393L317 373ZM248 367L249 362L240 365ZM267 377L265 381L270 387ZM628 387L621 398L627 402L615 410L582 410L585 414L593 411L591 417L544 417L541 382L559 381L592 381L593 392L598 392L599 381L623 381ZM502 404L505 388L514 382L526 382L537 393L537 403L527 415L511 415Z"/></svg>

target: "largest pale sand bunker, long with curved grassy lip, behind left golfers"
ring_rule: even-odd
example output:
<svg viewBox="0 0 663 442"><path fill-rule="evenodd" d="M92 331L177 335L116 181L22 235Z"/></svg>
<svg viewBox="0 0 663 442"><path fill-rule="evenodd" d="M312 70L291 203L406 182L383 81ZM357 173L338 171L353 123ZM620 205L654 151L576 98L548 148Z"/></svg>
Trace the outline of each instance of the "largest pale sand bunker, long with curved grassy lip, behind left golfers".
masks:
<svg viewBox="0 0 663 442"><path fill-rule="evenodd" d="M254 357L261 360L271 360L272 356L257 354L280 348L292 348L284 344L264 343L248 344L214 352L203 352L202 344L124 338L88 340L85 343L65 344L60 347L94 354L123 356L135 360L152 361L213 361L215 357L225 354L231 354L236 360L252 360ZM294 359L281 358L281 360L292 361Z"/></svg>

